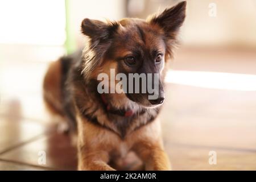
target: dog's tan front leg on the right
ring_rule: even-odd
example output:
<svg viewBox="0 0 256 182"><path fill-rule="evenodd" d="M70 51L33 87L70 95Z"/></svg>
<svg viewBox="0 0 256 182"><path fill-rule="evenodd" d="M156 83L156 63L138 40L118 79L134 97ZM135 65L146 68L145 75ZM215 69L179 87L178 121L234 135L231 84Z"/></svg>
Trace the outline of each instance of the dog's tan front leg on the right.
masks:
<svg viewBox="0 0 256 182"><path fill-rule="evenodd" d="M143 160L146 170L171 170L170 161L162 145L152 143L140 143L135 152Z"/></svg>

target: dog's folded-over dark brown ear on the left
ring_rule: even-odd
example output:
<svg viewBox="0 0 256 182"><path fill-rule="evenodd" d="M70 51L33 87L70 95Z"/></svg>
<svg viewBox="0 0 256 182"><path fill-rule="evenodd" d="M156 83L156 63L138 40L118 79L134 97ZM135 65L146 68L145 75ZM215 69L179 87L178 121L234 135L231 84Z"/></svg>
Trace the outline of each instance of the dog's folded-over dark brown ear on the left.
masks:
<svg viewBox="0 0 256 182"><path fill-rule="evenodd" d="M117 22L104 23L100 20L85 18L82 20L81 32L89 36L91 39L108 39L111 38L113 32L117 30Z"/></svg>

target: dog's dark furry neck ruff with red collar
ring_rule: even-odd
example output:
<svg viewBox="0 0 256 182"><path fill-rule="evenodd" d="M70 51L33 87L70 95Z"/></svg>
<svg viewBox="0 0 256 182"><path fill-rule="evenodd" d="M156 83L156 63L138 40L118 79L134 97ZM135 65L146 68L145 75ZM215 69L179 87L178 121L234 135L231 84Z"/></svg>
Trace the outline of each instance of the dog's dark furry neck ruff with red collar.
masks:
<svg viewBox="0 0 256 182"><path fill-rule="evenodd" d="M80 79L83 81L82 77ZM82 94L77 97L76 105L81 115L89 122L113 131L121 138L125 138L127 134L154 121L159 113L160 107L146 109L130 101L126 96L110 93L105 94L106 104L114 109L107 110L106 104L97 92L97 82L91 80L81 84L80 81L77 82L77 89L80 89L80 91L77 90L77 93ZM125 115L113 113L116 109L123 110L121 111L123 113L132 109L134 114L125 117Z"/></svg>

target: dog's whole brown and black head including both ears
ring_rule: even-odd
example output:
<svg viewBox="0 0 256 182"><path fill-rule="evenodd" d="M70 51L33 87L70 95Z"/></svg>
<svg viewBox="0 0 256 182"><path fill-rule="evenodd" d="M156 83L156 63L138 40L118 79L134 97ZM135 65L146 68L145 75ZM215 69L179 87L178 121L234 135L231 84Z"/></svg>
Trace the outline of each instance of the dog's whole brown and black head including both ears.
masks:
<svg viewBox="0 0 256 182"><path fill-rule="evenodd" d="M86 72L93 72L94 76L105 72L111 77L109 70L114 69L115 75L122 73L127 78L122 97L144 107L162 104L165 65L172 56L177 32L185 18L185 5L186 2L181 2L146 21L127 18L104 23L84 19L82 33L90 38L85 49ZM141 76L137 84L130 73Z"/></svg>

